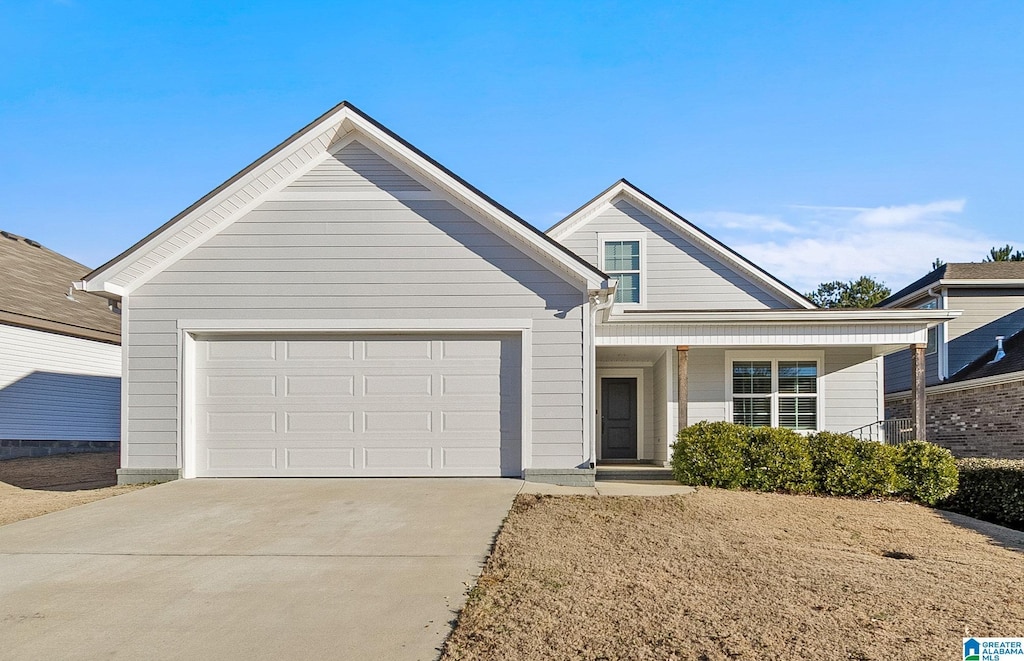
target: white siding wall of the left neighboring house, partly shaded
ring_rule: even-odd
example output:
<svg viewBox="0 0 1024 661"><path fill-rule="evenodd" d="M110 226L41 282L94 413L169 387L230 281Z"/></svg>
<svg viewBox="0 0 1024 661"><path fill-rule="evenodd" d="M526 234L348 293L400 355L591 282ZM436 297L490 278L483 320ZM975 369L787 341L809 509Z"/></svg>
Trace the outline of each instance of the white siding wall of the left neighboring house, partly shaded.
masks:
<svg viewBox="0 0 1024 661"><path fill-rule="evenodd" d="M121 347L0 325L0 439L120 437Z"/></svg>

